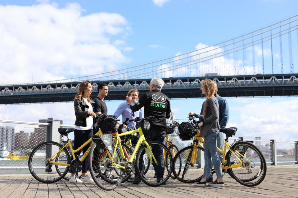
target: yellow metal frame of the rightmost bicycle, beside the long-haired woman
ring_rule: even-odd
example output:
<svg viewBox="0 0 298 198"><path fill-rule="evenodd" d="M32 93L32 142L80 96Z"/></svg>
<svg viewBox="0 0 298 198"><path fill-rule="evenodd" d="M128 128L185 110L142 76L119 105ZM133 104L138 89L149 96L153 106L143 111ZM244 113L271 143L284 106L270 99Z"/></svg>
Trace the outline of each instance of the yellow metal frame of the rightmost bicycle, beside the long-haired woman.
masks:
<svg viewBox="0 0 298 198"><path fill-rule="evenodd" d="M194 166L194 164L196 162L196 157L197 157L197 152L198 152L198 147L197 146L203 147L203 144L205 144L204 137L200 137L199 135L200 135L200 130L197 130L196 136L195 136L195 139L194 139L194 142L193 142L194 149L193 149L192 157L191 157L191 161L190 161L192 163L192 166ZM236 159L238 160L239 163L235 163L235 164L233 164L231 166L225 165L225 158L226 158L226 154L227 154L227 152L226 152L227 151L227 148L233 153L233 155L236 157ZM221 150L221 149L219 149L217 147L217 151L219 153L224 154L223 161L221 163L221 167L222 167L223 170L228 170L230 168L241 168L243 165L242 165L242 162L239 159L239 157L243 157L244 159L246 159L246 157L244 157L241 153L239 153L238 151L234 151L234 150L231 149L231 146L228 143L228 140L227 139L225 139L225 141L224 141L224 150ZM187 153L187 157L188 157L188 155L189 155L189 153Z"/></svg>

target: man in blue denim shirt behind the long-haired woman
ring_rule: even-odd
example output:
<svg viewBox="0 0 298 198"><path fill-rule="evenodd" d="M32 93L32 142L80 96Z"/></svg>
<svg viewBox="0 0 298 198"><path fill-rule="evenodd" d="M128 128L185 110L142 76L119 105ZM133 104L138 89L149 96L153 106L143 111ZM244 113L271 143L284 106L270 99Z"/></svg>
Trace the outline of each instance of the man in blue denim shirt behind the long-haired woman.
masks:
<svg viewBox="0 0 298 198"><path fill-rule="evenodd" d="M214 84L215 84L214 96L216 97L218 104L219 104L219 119L218 119L219 126L220 126L220 128L225 128L228 123L228 120L229 120L229 114L230 114L229 106L228 106L228 102L223 97L219 96L219 94L217 93L217 91L218 91L217 84L215 82L214 82ZM201 109L201 113L200 113L201 115L203 115L204 105L205 105L205 101L202 104L202 109ZM188 115L193 115L195 117L198 116L198 114L195 114L192 112L190 112ZM217 135L217 147L220 150L224 150L224 139L225 139L224 133L219 132ZM219 154L219 159L222 162L224 154L222 154L222 153L218 153L218 154ZM210 178L207 179L207 182L213 182L212 174L210 174Z"/></svg>

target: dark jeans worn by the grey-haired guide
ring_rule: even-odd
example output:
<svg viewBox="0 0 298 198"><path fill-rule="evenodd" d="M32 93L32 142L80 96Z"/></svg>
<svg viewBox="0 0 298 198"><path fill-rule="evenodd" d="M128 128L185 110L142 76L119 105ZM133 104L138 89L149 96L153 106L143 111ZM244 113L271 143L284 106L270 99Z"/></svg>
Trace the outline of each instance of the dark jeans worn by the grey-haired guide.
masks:
<svg viewBox="0 0 298 198"><path fill-rule="evenodd" d="M163 144L165 141L165 131L149 129L147 131L144 131L143 134L144 134L146 141L148 143L149 143L149 141L158 141ZM157 166L154 166L154 170L156 171L156 177L163 178L164 172L165 172L163 148L161 146L154 146L154 147L152 147L152 153L157 161ZM144 154L145 154L145 150L142 151L141 156L140 156L140 161L139 161L140 170L143 167ZM137 175L137 174L135 174L135 175Z"/></svg>

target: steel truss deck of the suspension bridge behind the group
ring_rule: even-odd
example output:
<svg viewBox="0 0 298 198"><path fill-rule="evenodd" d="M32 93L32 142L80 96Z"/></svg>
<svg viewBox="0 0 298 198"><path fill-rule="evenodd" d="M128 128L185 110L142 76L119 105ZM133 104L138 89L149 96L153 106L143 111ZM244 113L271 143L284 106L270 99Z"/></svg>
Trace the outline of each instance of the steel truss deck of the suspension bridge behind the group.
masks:
<svg viewBox="0 0 298 198"><path fill-rule="evenodd" d="M162 92L169 98L202 97L201 80L207 77L165 78ZM217 82L223 97L297 96L298 74L210 76ZM106 100L123 100L131 88L140 94L149 90L151 79L93 81L92 98L97 96L97 84L109 85ZM67 102L77 93L79 82L51 84L20 84L0 86L0 105L21 103Z"/></svg>

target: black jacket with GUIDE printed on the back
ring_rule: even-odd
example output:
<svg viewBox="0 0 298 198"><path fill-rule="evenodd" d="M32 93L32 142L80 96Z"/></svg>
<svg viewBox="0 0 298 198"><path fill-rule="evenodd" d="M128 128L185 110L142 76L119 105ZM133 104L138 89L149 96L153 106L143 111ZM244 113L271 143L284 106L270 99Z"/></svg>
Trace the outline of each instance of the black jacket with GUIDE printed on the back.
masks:
<svg viewBox="0 0 298 198"><path fill-rule="evenodd" d="M150 129L165 131L167 127L165 118L169 118L171 114L170 101L165 94L154 89L144 93L138 102L129 106L132 111L138 111L144 107L144 118L155 116L154 120L149 121Z"/></svg>

